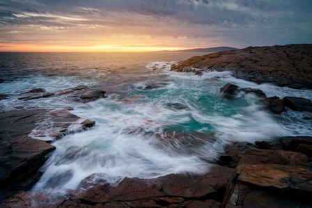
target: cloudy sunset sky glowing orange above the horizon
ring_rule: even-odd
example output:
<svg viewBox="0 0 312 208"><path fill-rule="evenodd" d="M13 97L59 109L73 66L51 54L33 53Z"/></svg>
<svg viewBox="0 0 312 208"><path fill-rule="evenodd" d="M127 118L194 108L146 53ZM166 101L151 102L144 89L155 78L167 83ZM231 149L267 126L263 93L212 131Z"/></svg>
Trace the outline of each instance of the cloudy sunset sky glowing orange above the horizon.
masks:
<svg viewBox="0 0 312 208"><path fill-rule="evenodd" d="M311 0L0 0L0 51L312 43Z"/></svg>

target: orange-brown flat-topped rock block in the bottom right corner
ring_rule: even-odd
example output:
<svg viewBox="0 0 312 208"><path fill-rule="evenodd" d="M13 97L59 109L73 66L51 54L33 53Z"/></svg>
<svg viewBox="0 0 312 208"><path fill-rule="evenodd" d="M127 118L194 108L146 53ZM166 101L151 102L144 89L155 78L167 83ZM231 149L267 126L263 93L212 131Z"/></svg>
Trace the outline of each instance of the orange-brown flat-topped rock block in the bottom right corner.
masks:
<svg viewBox="0 0 312 208"><path fill-rule="evenodd" d="M310 207L309 166L242 165L228 186L224 207Z"/></svg>

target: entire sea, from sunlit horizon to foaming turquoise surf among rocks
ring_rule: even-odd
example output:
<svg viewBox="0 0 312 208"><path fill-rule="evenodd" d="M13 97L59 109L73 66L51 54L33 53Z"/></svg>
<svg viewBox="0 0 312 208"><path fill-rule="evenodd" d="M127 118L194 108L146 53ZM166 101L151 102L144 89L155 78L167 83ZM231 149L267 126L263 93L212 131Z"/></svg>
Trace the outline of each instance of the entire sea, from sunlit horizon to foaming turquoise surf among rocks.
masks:
<svg viewBox="0 0 312 208"><path fill-rule="evenodd" d="M106 99L79 104L57 98L0 101L1 111L72 106L95 127L65 136L42 167L34 190L65 193L98 173L109 182L123 177L205 173L224 145L268 141L276 136L311 135L311 113L273 115L254 95L228 101L219 88L230 82L260 88L268 96L311 99L311 90L257 85L231 72L170 72L194 53L2 53L0 93L23 88L55 91L79 85L107 91ZM156 69L156 70L153 70ZM47 122L49 122L47 120ZM175 135L175 136L173 136ZM36 131L31 134L37 137ZM209 139L214 137L215 140Z"/></svg>

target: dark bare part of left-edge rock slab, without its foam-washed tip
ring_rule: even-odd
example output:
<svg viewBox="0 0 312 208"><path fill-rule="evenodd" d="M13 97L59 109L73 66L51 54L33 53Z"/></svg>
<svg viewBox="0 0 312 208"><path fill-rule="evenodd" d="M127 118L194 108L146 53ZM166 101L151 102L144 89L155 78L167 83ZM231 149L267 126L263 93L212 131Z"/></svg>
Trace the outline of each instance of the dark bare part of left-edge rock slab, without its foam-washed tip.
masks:
<svg viewBox="0 0 312 208"><path fill-rule="evenodd" d="M0 201L36 182L38 177L26 181L28 177L36 175L38 168L47 160L47 154L55 149L45 141L28 136L36 127L35 122L45 112L22 110L0 113L0 189L3 190L0 191Z"/></svg>

